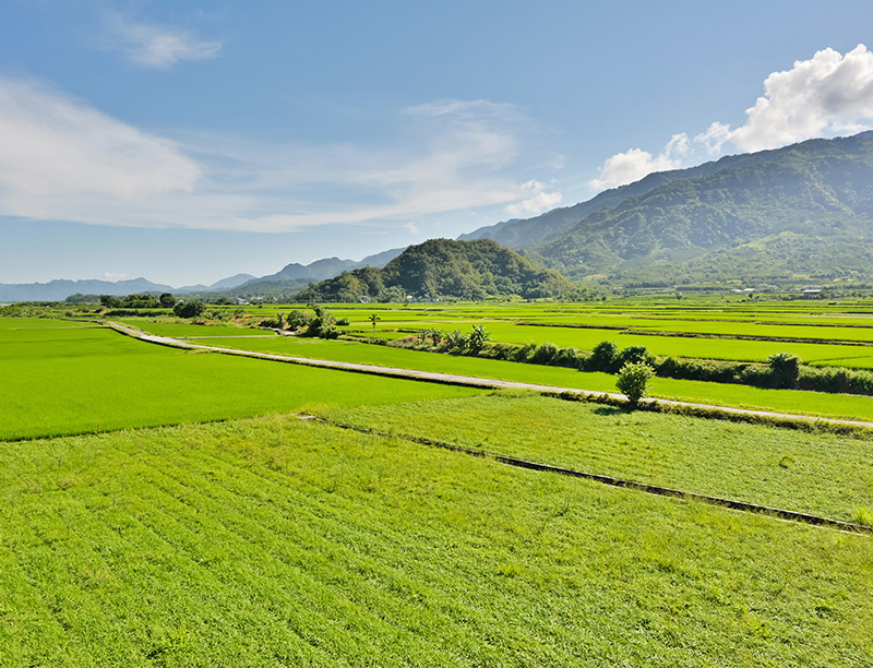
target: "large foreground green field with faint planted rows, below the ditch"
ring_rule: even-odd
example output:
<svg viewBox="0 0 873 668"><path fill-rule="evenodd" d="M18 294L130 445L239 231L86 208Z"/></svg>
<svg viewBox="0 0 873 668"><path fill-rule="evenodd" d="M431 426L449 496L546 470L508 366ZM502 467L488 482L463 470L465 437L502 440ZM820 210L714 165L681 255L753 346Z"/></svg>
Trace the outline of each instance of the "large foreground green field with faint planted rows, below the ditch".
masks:
<svg viewBox="0 0 873 668"><path fill-rule="evenodd" d="M2 666L869 666L873 541L292 417L0 451Z"/></svg>

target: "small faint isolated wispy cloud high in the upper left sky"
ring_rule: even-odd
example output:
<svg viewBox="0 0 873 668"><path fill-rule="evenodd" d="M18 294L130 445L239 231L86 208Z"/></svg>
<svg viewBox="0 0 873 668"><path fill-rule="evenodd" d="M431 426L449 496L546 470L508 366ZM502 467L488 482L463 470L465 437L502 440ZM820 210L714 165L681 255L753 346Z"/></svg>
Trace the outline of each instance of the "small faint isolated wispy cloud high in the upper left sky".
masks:
<svg viewBox="0 0 873 668"><path fill-rule="evenodd" d="M182 60L208 60L222 49L222 43L199 39L192 33L171 25L133 21L119 13L106 16L106 45L123 51L133 62L164 69Z"/></svg>

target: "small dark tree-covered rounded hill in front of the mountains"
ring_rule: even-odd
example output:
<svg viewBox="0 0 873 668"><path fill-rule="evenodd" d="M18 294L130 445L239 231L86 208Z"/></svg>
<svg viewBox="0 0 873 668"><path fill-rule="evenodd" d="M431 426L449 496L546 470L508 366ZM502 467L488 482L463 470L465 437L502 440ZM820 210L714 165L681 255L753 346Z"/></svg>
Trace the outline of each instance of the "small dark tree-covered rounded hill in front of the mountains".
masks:
<svg viewBox="0 0 873 668"><path fill-rule="evenodd" d="M384 269L343 272L303 290L302 301L357 301L415 297L486 299L521 295L555 297L573 289L557 272L543 270L490 239L431 239L410 246Z"/></svg>

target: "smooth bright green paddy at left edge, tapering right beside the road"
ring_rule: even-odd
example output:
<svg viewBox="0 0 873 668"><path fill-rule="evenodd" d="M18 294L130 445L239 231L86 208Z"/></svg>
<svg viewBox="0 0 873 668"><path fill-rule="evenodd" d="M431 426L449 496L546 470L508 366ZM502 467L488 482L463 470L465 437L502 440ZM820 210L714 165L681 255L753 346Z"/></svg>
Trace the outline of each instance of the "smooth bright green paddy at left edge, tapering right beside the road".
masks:
<svg viewBox="0 0 873 668"><path fill-rule="evenodd" d="M474 390L176 350L106 329L0 329L0 439L358 405Z"/></svg>

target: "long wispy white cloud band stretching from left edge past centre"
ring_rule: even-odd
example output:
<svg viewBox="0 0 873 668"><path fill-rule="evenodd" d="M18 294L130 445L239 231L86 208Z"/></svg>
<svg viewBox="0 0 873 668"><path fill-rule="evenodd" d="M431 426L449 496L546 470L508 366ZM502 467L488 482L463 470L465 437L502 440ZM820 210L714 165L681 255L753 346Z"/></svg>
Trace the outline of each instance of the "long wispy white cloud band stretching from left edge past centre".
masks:
<svg viewBox="0 0 873 668"><path fill-rule="evenodd" d="M476 115L475 109L482 110ZM399 112L382 146L262 145L133 128L33 81L0 77L0 215L283 232L396 225L518 199L517 128L487 104ZM431 120L429 120L431 119ZM528 191L528 199L554 194ZM530 206L535 203L531 202Z"/></svg>

